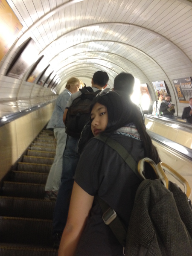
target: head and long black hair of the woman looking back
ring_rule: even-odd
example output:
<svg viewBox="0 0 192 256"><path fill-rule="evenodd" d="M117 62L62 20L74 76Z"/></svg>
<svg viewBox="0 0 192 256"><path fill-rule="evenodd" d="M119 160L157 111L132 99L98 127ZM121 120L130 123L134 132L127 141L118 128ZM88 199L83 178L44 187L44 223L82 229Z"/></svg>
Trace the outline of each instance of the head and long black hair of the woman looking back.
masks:
<svg viewBox="0 0 192 256"><path fill-rule="evenodd" d="M91 131L96 136L99 133L110 135L117 129L134 123L143 141L145 157L150 157L155 163L160 161L156 148L146 132L143 116L139 108L126 97L110 91L105 95L96 96L90 106Z"/></svg>

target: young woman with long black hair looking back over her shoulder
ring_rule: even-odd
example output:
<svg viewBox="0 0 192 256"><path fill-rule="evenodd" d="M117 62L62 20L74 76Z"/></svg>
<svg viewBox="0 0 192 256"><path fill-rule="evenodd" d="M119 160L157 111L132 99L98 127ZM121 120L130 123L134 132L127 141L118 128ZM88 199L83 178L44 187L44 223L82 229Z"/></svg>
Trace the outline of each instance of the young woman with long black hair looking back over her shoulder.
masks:
<svg viewBox="0 0 192 256"><path fill-rule="evenodd" d="M143 157L150 157L158 163L160 158L145 131L137 106L113 91L104 90L99 94L90 108L93 135L113 138L137 162ZM116 151L100 140L90 139L76 168L67 224L58 255L122 256L122 245L103 222L102 210L94 197L99 195L128 227L140 182Z"/></svg>

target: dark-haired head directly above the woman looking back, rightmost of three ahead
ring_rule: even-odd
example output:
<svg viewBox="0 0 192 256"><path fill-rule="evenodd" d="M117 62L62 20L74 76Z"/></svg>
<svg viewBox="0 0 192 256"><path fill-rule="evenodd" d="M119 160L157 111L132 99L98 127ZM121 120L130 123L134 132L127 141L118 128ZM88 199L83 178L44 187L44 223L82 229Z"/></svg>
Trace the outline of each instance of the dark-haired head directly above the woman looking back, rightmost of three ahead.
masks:
<svg viewBox="0 0 192 256"><path fill-rule="evenodd" d="M114 79L113 89L118 93L131 96L134 90L135 79L130 73L120 73Z"/></svg>

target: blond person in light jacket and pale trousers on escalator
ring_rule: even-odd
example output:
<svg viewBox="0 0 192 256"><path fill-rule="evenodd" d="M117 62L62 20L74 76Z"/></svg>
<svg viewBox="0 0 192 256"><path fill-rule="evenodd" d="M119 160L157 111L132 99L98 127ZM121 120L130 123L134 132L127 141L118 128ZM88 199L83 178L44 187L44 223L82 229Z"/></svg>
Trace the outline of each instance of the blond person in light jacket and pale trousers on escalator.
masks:
<svg viewBox="0 0 192 256"><path fill-rule="evenodd" d="M47 125L47 129L54 132L57 140L56 154L54 162L49 171L47 182L45 185L45 198L56 199L59 186L61 184L61 173L63 168L63 152L66 145L67 134L65 133L65 125L63 122L63 114L67 102L73 93L79 91L84 86L83 82L72 77L67 81L65 90L58 96L51 119Z"/></svg>

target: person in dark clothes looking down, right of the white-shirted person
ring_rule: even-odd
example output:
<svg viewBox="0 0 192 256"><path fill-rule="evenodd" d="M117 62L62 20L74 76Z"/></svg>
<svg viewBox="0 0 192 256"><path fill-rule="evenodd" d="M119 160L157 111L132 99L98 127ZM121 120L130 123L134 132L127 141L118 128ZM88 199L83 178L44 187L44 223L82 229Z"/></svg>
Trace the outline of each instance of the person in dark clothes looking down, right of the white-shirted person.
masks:
<svg viewBox="0 0 192 256"><path fill-rule="evenodd" d="M160 112L162 116L167 118L175 119L175 105L171 103L171 95L167 94L165 99L162 101L160 105Z"/></svg>

